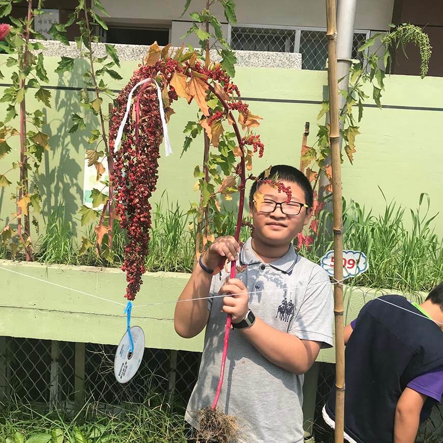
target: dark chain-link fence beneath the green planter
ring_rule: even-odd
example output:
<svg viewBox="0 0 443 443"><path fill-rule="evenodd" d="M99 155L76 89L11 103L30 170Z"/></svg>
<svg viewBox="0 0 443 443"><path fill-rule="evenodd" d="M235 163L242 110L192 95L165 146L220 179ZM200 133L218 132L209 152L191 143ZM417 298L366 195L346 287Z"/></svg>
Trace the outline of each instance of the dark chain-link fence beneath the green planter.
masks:
<svg viewBox="0 0 443 443"><path fill-rule="evenodd" d="M125 384L114 376L117 346L0 337L0 401L26 402L46 410L80 410L94 402L107 411L128 403L143 403L152 393L185 406L197 381L199 352L145 349L142 365ZM334 443L321 410L335 379L335 365L318 364L315 409L309 441ZM443 407L434 408L417 441L443 439Z"/></svg>

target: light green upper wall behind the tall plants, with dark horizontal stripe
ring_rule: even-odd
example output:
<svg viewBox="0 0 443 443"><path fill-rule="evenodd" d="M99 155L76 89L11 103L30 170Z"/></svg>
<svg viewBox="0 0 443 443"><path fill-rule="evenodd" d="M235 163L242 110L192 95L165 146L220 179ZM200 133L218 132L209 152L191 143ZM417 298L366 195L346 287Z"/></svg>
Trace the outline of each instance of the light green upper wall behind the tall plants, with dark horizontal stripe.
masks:
<svg viewBox="0 0 443 443"><path fill-rule="evenodd" d="M0 56L0 63L6 56ZM70 74L54 73L58 58L46 58L46 69L53 87L81 87L81 73L86 69L83 61L76 61ZM124 81L110 80L113 89L120 89L136 68L134 62L123 62L121 73ZM8 82L10 70L2 69L3 82ZM290 69L237 68L236 82L244 97L255 99L290 99L321 101L325 91L326 73L319 71L297 71ZM437 212L443 191L443 169L441 168L441 137L438 130L443 127L441 90L443 78L429 77L421 80L414 76L393 75L386 79L386 92L382 102L386 105L410 108L365 108L361 125L362 134L357 139L357 154L354 165L345 160L343 165L343 191L347 199L357 200L378 212L384 201L377 186L388 200L396 199L408 207L416 207L421 192L431 196L431 211ZM0 90L3 88L0 87ZM1 92L1 91L0 91ZM41 108L26 95L27 108ZM51 150L45 154L41 167L41 191L44 215L58 205L65 205L68 219L78 220L77 208L82 196L83 158L86 149L87 131L68 134L70 115L80 112L77 91L52 90L52 109L47 110L47 131L51 135ZM28 99L28 96L29 97ZM255 172L269 164L299 164L301 134L304 122L311 122L314 143L316 116L319 105L315 103L281 103L275 101L250 102L254 114L264 117L259 128L265 143L263 159L255 161ZM5 109L0 103L0 112ZM418 107L440 108L423 110ZM176 115L169 124L174 154L160 159L158 190L155 198L164 189L170 199L179 200L185 207L189 201L197 200L192 191L195 179L193 167L201 163L202 143L194 142L189 151L180 158L184 135L182 129L189 119L196 116L195 104L184 102L175 105ZM94 123L93 119L90 120ZM16 161L14 152L0 160L0 173L9 169ZM163 152L163 151L162 151ZM11 179L11 178L10 178ZM14 206L9 200L9 189L0 189L0 218L7 220ZM442 215L434 220L437 232L443 234ZM4 221L1 221L4 223ZM79 235L81 230L79 229Z"/></svg>

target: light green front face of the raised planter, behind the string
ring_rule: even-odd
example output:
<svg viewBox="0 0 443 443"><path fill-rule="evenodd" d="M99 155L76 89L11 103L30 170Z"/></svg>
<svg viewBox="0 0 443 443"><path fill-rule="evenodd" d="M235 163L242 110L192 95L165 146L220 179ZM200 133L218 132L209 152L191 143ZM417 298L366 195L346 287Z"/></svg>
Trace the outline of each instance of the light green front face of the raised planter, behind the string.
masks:
<svg viewBox="0 0 443 443"><path fill-rule="evenodd" d="M131 324L144 329L147 348L202 350L203 333L182 339L174 330L175 302L188 279L172 272L144 276ZM118 344L126 328L125 286L119 269L0 260L0 336ZM370 299L362 290L346 290L345 323ZM333 363L334 349L321 351L318 361Z"/></svg>

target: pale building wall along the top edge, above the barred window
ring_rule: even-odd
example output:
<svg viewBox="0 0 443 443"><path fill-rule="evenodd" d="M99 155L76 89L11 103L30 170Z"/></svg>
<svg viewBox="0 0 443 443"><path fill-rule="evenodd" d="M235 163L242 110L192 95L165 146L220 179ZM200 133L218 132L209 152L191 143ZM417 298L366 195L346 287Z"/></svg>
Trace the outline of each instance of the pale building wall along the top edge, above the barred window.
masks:
<svg viewBox="0 0 443 443"><path fill-rule="evenodd" d="M121 23L165 23L180 19L185 0L102 0L110 20ZM238 23L324 27L324 0L236 0ZM190 11L202 10L205 0L192 0ZM391 23L394 0L357 0L356 29L383 30ZM226 21L221 8L214 13ZM180 19L187 19L187 13Z"/></svg>

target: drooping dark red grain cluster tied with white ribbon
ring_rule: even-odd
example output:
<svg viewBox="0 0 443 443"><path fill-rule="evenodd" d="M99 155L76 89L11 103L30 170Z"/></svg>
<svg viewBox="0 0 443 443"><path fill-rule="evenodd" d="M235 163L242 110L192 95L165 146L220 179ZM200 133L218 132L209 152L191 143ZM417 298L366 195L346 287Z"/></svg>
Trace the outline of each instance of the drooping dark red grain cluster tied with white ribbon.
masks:
<svg viewBox="0 0 443 443"><path fill-rule="evenodd" d="M171 58L160 59L154 66L140 66L118 96L113 109L109 135L112 150L114 150L117 131L125 114L129 93L139 81L146 78L155 79L163 93L165 89L168 91L166 100L163 94L164 113L168 119L172 114L172 108L168 101L172 102L178 99L177 91L170 85L175 72L187 77L191 77L192 72L206 75L208 78L203 78L203 81L208 85L208 90L210 90L209 85L213 87L215 83L221 86L216 95L225 110L215 112L210 118L210 125L215 120L227 119L231 109L242 113L243 119L247 118L249 114L247 104L238 98L235 102L231 102L233 94L235 93L239 97L240 93L237 86L231 82L230 76L221 69L220 65L207 68L198 61L190 66L188 61L179 62ZM192 99L191 96L189 102ZM157 183L159 146L163 139L158 96L154 82L149 81L135 90L132 100L123 139L114 153L114 169L110 173L110 179L113 180L115 189L115 210L121 218L120 226L126 230L128 238L122 265L128 283L125 294L128 300L133 300L140 290L142 275L146 270L145 260L149 253L149 229L151 227L149 199L155 191ZM259 137L255 139L249 137L247 140L242 140L240 145L245 144L252 145L254 151L260 149L262 155L263 144L261 144Z"/></svg>

